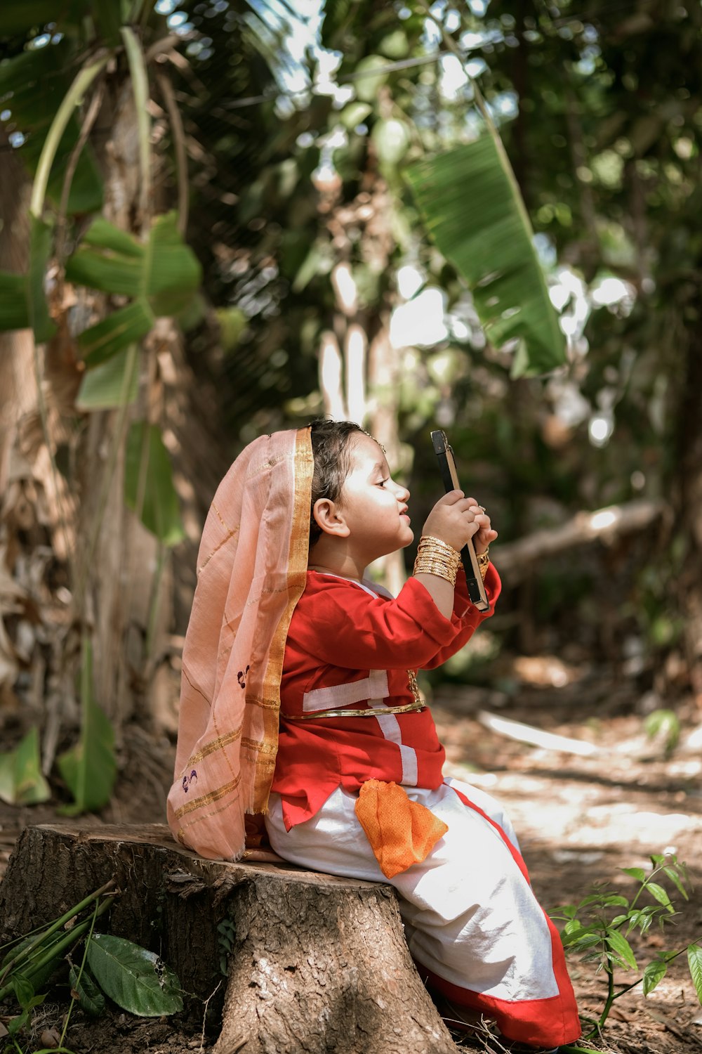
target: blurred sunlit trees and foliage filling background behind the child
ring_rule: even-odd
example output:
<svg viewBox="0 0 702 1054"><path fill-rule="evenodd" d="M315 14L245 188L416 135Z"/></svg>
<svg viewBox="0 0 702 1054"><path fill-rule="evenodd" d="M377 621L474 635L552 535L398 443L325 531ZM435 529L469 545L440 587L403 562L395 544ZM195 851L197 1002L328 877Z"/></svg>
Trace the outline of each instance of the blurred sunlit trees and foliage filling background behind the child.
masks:
<svg viewBox="0 0 702 1054"><path fill-rule="evenodd" d="M84 56L114 33L98 19L97 38L74 39L72 50L71 20L92 5L58 4L55 21L40 13L32 25L28 8L13 21L21 6L0 15L1 54L12 61L43 47L54 58L63 48L66 64L46 66L51 83L69 81L81 47ZM500 611L484 644L445 677L504 686L512 675L501 657L555 655L573 668L614 671L630 689L627 705L643 698L644 708L677 705L699 720L699 4L126 6L118 14L132 15L152 67L167 72L182 122L178 136L153 74L161 85L149 102L153 194L161 209L182 202L174 161L182 148L184 238L202 268L200 293L168 337L171 373L157 353L151 360L161 388L142 419L163 430L186 539L169 543L174 594L159 608L166 643L132 663L129 698L152 698L159 662L177 675L194 550L229 462L262 432L332 412L362 419L387 446L416 525L440 489L428 432L444 428L466 490L500 531ZM406 178L418 160L475 140L481 105L512 161L567 339L565 365L539 376L525 375L514 341L487 341L476 299L427 237ZM12 87L2 106L3 157L36 163L40 133L13 114ZM103 105L89 133L103 171L113 117ZM6 201L3 191L5 217ZM466 196L466 222L475 208ZM76 236L81 222L79 214ZM4 258L0 267L21 269ZM80 421L75 411L72 419ZM617 515L602 521L610 529L590 530L583 512L611 506ZM640 514L634 527L627 510ZM3 523L5 552L26 548L34 528L17 533L7 514ZM48 521L32 521L42 523L35 543L56 550ZM536 548L520 549L531 536ZM52 559L55 598L66 557ZM163 547L152 564L162 575ZM15 572L11 557L5 567ZM379 573L397 585L402 569ZM149 612L140 632L153 644ZM36 680L17 646L21 621L5 620L11 702ZM173 678L166 684L171 698ZM169 734L174 707L151 708ZM118 723L135 716L134 703L105 708Z"/></svg>

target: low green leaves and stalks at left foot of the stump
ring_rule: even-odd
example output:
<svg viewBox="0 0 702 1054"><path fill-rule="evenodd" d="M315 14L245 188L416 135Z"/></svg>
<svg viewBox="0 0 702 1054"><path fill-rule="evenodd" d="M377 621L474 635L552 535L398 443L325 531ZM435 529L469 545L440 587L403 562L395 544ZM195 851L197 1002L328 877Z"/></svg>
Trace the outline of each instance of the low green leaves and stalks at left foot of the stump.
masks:
<svg viewBox="0 0 702 1054"><path fill-rule="evenodd" d="M13 999L20 1008L7 1024L9 1041L18 1054L23 1052L17 1036L29 1023L35 1008L44 1001L42 989L64 959L69 965L71 1006L54 1054L72 1054L63 1042L77 1002L93 1017L104 1010L105 995L122 1010L142 1017L161 1017L183 1009L178 977L159 956L122 937L95 933L96 921L116 895L115 883L107 882L48 926L0 949L0 954L5 953L0 959L0 1002ZM82 955L76 967L72 955L79 949Z"/></svg>

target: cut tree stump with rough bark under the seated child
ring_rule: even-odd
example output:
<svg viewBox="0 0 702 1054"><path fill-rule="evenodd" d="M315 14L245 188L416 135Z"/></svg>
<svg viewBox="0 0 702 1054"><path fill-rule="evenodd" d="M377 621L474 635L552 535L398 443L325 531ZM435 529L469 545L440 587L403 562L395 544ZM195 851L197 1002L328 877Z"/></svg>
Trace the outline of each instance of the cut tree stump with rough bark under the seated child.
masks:
<svg viewBox="0 0 702 1054"><path fill-rule="evenodd" d="M165 825L26 828L0 885L3 936L113 877L121 892L101 929L158 952L200 1020L208 1000L208 1019L221 1019L214 1054L456 1054L390 886L204 860Z"/></svg>

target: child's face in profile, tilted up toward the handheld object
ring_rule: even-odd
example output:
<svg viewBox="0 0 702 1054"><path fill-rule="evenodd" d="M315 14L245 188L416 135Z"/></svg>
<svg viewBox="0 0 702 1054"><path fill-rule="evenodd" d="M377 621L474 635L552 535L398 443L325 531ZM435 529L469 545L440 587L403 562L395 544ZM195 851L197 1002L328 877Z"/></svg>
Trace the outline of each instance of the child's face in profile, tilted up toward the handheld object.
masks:
<svg viewBox="0 0 702 1054"><path fill-rule="evenodd" d="M348 542L369 564L378 557L409 545L409 491L390 477L385 454L369 435L359 435L350 449L350 471L344 480L340 510Z"/></svg>

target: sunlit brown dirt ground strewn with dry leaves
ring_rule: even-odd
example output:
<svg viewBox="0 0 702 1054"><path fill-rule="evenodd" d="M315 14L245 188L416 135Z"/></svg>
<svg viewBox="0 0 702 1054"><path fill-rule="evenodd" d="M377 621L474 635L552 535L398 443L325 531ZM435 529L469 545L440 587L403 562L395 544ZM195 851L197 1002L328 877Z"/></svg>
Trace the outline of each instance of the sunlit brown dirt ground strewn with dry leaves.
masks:
<svg viewBox="0 0 702 1054"><path fill-rule="evenodd" d="M459 686L435 692L432 705L446 745L448 775L475 783L507 807L546 910L577 902L595 883L608 883L613 892L631 896L636 883L621 868L647 871L651 854L675 853L688 866L690 898L685 902L668 883L679 914L662 934L651 929L644 938L633 937L631 943L643 967L663 949L702 941L699 710L683 708L680 741L669 753L663 736L646 737L641 706L631 698L630 687L602 671L597 680L578 676L558 660L524 662L517 690L509 695ZM528 727L496 726L502 720ZM523 741L538 739L540 733L575 742ZM115 800L95 822L162 822L173 746L165 738L155 743L140 728L128 733L126 746L129 766ZM135 767L142 776L147 774L148 786L143 779L138 783L129 779ZM53 815L46 806L13 809L0 804L0 870L21 828ZM597 1018L606 991L603 975L594 964L577 959L569 965L581 1015ZM617 981L629 984L637 976L618 974ZM65 1004L40 1008L34 1036L22 1050L29 1054L42 1047L46 1030L57 1026L64 1010ZM457 1034L456 1039L468 1050L502 1050L487 1034ZM206 1051L210 1040L201 1029L179 1031L175 1019L143 1020L114 1013L102 1024L93 1024L78 1011L65 1041L76 1054L186 1054ZM586 1046L614 1054L701 1054L702 1008L686 956L670 963L648 997L643 997L641 985L623 995L603 1035Z"/></svg>

